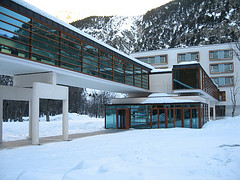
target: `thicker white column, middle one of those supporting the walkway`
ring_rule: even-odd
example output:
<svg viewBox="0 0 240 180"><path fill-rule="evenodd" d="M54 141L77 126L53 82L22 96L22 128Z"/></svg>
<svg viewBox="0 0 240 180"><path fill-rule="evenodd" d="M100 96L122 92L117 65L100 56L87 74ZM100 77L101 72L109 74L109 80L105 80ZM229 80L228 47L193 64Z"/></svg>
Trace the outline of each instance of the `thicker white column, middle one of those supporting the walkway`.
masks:
<svg viewBox="0 0 240 180"><path fill-rule="evenodd" d="M33 83L33 96L32 96L32 144L39 144L39 89Z"/></svg>

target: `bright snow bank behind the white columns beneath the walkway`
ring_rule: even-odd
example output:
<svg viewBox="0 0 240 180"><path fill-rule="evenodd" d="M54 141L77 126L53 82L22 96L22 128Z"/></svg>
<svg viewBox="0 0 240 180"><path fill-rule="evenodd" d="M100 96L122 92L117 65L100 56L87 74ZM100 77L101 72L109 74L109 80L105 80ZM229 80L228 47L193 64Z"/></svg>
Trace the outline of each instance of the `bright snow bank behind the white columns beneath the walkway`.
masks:
<svg viewBox="0 0 240 180"><path fill-rule="evenodd" d="M50 122L46 122L46 116L39 120L39 136L62 135L62 115L50 117ZM15 141L28 138L28 118L24 122L3 122L3 141ZM86 115L69 113L69 134L86 133L100 131L104 129L103 118L90 118Z"/></svg>

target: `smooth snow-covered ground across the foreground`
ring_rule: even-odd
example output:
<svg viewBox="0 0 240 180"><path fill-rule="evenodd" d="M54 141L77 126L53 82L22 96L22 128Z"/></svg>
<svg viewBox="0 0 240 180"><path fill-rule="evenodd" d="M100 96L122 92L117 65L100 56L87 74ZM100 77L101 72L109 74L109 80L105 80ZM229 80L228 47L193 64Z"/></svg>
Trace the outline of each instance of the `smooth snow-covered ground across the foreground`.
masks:
<svg viewBox="0 0 240 180"><path fill-rule="evenodd" d="M0 150L4 180L239 180L240 116Z"/></svg>

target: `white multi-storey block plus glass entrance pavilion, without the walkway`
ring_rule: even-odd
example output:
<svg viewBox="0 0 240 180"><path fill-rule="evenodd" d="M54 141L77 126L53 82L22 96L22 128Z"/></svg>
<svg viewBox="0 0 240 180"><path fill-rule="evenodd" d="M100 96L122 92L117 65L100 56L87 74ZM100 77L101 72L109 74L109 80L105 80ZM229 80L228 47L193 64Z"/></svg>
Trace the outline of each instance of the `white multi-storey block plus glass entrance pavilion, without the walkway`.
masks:
<svg viewBox="0 0 240 180"><path fill-rule="evenodd" d="M149 63L145 97L130 95L106 106L106 128L201 128L212 119L240 114L240 62L235 43L137 52L132 57Z"/></svg>

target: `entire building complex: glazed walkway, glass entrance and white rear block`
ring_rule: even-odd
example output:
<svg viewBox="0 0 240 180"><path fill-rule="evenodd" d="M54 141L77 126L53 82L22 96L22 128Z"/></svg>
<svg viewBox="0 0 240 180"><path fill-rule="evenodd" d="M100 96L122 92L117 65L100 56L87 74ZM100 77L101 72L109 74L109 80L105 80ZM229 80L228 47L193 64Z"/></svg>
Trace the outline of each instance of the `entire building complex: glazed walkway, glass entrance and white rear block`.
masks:
<svg viewBox="0 0 240 180"><path fill-rule="evenodd" d="M229 115L238 63L226 44L129 56L24 1L0 0L0 74L13 76L0 86L0 142L3 100L29 101L33 144L39 99L62 100L68 140L67 86L128 94L106 105L106 128L201 128L210 112Z"/></svg>

